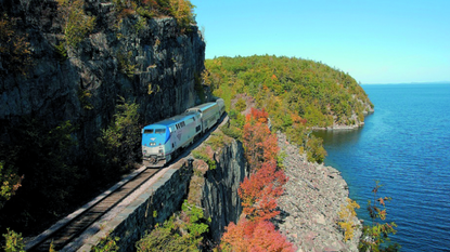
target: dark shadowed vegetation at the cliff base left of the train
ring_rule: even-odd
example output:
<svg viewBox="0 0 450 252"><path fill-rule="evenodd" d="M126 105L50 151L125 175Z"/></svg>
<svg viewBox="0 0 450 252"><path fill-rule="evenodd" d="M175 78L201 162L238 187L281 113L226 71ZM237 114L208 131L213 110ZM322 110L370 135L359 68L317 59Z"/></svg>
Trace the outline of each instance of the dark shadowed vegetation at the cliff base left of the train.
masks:
<svg viewBox="0 0 450 252"><path fill-rule="evenodd" d="M73 156L77 128L69 121L49 129L23 118L8 129L11 143L0 143L1 234L7 227L34 234L133 168L140 155L138 105L120 98L113 118L82 160Z"/></svg>

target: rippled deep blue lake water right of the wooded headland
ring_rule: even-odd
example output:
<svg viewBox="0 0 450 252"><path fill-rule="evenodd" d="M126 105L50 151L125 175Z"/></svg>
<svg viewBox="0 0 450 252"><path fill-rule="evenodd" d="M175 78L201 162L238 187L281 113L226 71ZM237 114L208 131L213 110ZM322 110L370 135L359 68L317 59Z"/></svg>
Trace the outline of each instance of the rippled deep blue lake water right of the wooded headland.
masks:
<svg viewBox="0 0 450 252"><path fill-rule="evenodd" d="M374 180L390 196L402 251L450 251L450 84L362 85L375 105L360 130L318 133L368 220Z"/></svg>

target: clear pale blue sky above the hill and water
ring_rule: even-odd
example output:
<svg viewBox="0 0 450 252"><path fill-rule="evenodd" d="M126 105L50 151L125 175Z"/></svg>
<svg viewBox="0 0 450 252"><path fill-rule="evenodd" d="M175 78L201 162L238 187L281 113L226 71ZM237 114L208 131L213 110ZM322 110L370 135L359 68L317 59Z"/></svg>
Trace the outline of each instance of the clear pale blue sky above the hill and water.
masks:
<svg viewBox="0 0 450 252"><path fill-rule="evenodd" d="M191 0L206 58L322 62L360 83L450 81L450 0Z"/></svg>

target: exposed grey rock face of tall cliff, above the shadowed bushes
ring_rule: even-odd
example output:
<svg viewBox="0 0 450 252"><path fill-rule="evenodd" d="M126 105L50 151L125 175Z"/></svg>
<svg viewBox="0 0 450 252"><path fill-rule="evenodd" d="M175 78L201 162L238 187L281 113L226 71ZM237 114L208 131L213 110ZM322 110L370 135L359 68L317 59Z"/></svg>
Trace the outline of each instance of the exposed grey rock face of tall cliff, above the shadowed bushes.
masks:
<svg viewBox="0 0 450 252"><path fill-rule="evenodd" d="M0 0L0 12L16 21L17 32L28 34L34 64L26 77L0 69L3 140L7 127L29 116L49 127L70 120L81 147L89 146L110 123L119 96L140 105L143 124L195 104L205 59L196 26L182 34L173 18L165 17L138 28L138 15L119 24L111 2L86 2L86 13L97 19L94 30L63 58L55 51L63 41L56 1Z"/></svg>

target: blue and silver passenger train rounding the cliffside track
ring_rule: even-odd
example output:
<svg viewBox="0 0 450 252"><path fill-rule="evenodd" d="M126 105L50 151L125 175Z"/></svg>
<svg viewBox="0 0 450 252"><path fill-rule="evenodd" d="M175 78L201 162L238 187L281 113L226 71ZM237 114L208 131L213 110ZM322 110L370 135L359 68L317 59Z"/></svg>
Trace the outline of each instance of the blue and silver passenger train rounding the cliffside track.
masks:
<svg viewBox="0 0 450 252"><path fill-rule="evenodd" d="M142 129L142 159L146 167L164 167L183 148L213 128L224 114L222 98L188 108L183 114Z"/></svg>

